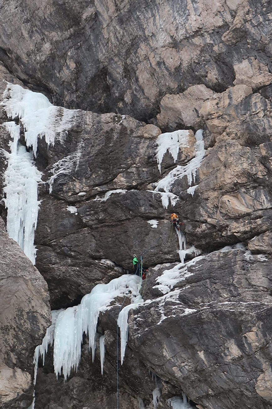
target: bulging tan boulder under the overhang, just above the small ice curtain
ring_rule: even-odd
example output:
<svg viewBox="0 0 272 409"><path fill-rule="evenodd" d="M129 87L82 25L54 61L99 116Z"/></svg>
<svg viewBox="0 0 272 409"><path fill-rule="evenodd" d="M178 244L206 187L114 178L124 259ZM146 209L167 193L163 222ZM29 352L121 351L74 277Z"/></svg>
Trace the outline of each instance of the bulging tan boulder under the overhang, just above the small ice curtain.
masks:
<svg viewBox="0 0 272 409"><path fill-rule="evenodd" d="M158 125L161 128L170 126L193 126L201 128L203 120L199 117L199 110L204 101L210 100L215 92L205 85L192 85L186 91L177 95L167 94L160 103L161 112L157 115Z"/></svg>

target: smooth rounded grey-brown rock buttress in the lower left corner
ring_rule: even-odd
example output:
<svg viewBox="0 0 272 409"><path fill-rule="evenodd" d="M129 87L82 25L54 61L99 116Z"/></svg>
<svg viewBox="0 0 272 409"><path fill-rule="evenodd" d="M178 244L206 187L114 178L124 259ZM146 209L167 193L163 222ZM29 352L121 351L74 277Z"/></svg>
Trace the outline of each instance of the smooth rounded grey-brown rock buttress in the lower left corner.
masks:
<svg viewBox="0 0 272 409"><path fill-rule="evenodd" d="M33 354L50 325L47 284L0 218L0 406L28 407Z"/></svg>

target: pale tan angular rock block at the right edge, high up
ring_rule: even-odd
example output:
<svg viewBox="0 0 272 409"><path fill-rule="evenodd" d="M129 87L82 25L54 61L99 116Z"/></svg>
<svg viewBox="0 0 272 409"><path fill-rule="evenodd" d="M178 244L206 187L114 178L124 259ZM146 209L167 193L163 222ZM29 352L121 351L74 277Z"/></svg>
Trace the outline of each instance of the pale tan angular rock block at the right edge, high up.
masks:
<svg viewBox="0 0 272 409"><path fill-rule="evenodd" d="M245 84L255 91L272 83L272 74L268 67L253 57L234 65L233 68L235 71L234 85Z"/></svg>

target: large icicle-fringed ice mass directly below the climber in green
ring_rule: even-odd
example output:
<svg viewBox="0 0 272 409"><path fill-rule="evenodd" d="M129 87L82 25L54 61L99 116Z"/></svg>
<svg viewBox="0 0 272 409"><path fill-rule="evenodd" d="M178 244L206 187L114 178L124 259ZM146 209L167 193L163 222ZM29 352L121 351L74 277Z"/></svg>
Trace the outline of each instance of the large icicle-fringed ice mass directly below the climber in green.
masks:
<svg viewBox="0 0 272 409"><path fill-rule="evenodd" d="M95 333L97 319L100 312L111 308L110 303L118 296L126 295L132 301L132 308L142 300L139 290L142 280L140 277L130 274L111 280L108 284L97 284L90 294L86 294L78 306L67 308L58 312L53 330L54 338L54 368L56 375L61 371L64 380L71 373L71 369L77 369L81 356L81 344L83 334L88 334L89 348L92 349L93 358L95 353ZM130 307L130 306L128 306ZM126 308L126 307L125 307ZM126 312L126 311L125 311ZM123 313L124 317L124 313ZM53 321L53 317L52 317ZM120 322L120 321L119 321ZM124 321L122 321L122 324ZM126 325L121 325L121 337L126 344L123 330L126 333ZM53 325L53 322L52 322ZM51 330L46 332L46 339L42 346L37 347L36 355L42 355L46 345L51 340ZM125 348L124 343L122 344ZM44 356L44 355L42 355Z"/></svg>

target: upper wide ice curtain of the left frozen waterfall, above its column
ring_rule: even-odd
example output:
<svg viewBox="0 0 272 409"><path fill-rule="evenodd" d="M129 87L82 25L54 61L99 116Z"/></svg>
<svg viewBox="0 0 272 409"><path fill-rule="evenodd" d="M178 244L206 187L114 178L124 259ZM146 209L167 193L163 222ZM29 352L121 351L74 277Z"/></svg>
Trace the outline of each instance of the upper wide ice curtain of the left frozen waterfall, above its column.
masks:
<svg viewBox="0 0 272 409"><path fill-rule="evenodd" d="M24 126L27 147L33 149L36 156L38 137L45 137L48 146L55 144L55 137L60 140L71 127L75 110L53 106L40 92L25 90L20 85L7 83L1 105L8 117L19 118Z"/></svg>

